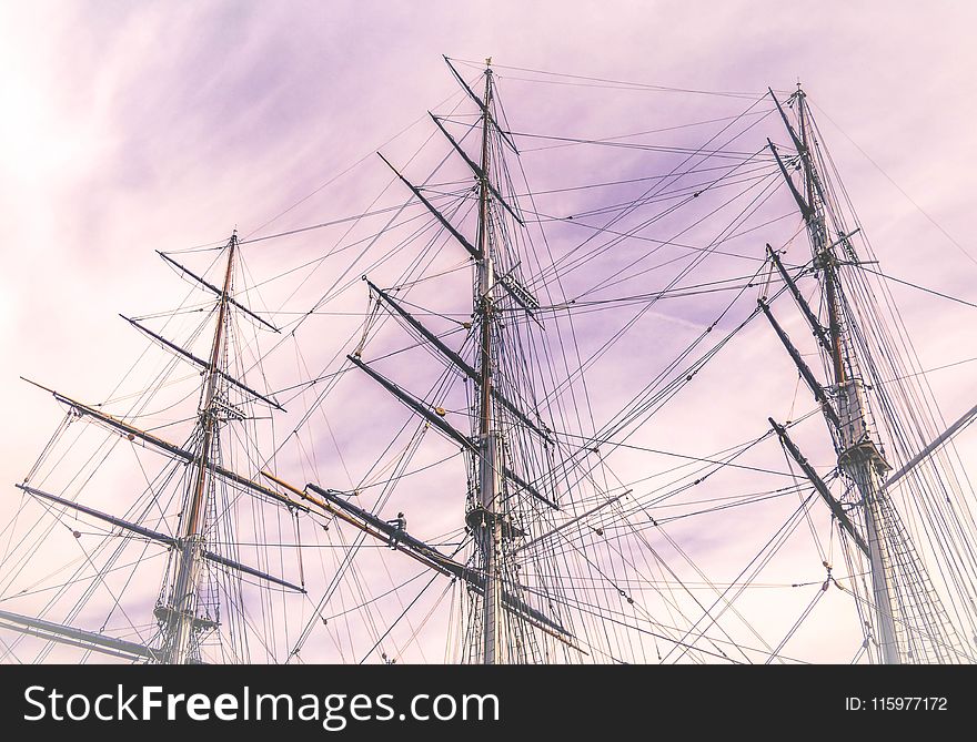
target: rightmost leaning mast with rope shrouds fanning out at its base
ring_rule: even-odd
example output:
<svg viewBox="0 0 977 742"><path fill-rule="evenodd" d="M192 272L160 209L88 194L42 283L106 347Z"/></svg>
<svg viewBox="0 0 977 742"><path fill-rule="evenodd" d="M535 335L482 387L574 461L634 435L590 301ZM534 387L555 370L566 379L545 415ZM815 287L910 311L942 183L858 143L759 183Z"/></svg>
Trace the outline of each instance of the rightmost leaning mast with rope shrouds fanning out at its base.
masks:
<svg viewBox="0 0 977 742"><path fill-rule="evenodd" d="M885 477L892 467L885 459L867 404L866 390L870 387L863 380L856 339L844 306L839 281L839 266L844 262L838 260L836 247L843 247L847 260L857 262L857 256L849 235L844 234L840 226L837 240L829 240L829 200L809 143L810 119L805 93L798 85L793 96L800 122L799 136L773 91L770 95L803 167L804 195L790 182L784 161L770 143L770 151L804 214L814 265L820 275L828 326L825 329L818 325L815 332L819 331L832 377L827 393L834 398L834 405L827 398L823 405L838 455L838 470L850 482L856 497L853 505L863 515L865 538L860 546L869 562L878 659L886 664L955 661L959 654L958 639L886 490ZM783 429L778 433L782 439L786 437Z"/></svg>

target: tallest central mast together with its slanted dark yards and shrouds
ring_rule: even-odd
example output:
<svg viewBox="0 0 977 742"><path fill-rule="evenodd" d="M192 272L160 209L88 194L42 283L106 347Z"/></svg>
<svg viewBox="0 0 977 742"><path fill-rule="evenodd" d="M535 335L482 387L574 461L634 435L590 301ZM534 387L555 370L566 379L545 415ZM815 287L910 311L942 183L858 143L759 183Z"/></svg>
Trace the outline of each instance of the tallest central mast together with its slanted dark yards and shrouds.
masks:
<svg viewBox="0 0 977 742"><path fill-rule="evenodd" d="M449 65L451 67L450 62ZM475 95L467 84L463 84L480 109L480 119L475 123L475 126L481 128L480 153L477 155L469 155L466 149L455 140L441 119L431 113L434 124L475 176L477 227L473 240L469 241L424 196L421 187L413 185L381 155L394 175L410 189L414 197L465 248L472 258L475 267L472 276L472 316L475 322L465 323L465 325L466 327L474 326L473 337L477 348L475 358L469 363L456 350L449 347L436 333L425 327L401 306L400 302L394 299L391 294L363 276L371 292L376 296L377 304L384 304L414 334L437 350L454 372L475 383L476 389L474 389L470 407L471 435L462 433L446 421L443 408L434 407L423 398L407 393L393 380L371 368L370 364L362 360L360 353L346 357L350 363L365 372L413 413L423 417L431 427L436 428L450 440L460 444L471 455L469 459L470 480L465 498L465 530L472 536L475 549L471 556L471 579L465 578L472 598L471 610L467 613L470 622L466 661L501 664L521 662L531 655L538 657L536 639L532 632L527 631L530 627L566 643L576 651L582 650L567 639L558 620L550 620L538 609L530 607L530 603L521 597L523 586L515 577L520 565L513 559L516 550L512 548L512 543L515 539L526 536L526 531L516 525L514 514L523 515L526 512L528 507L525 510L522 509L522 502L530 498L552 510L558 511L562 508L556 499L546 492L546 488L541 487L540 482L546 481L546 479L541 478L540 474L534 471L531 466L526 467L525 460L520 461L523 464L522 467L513 469L513 461L508 460L507 440L503 435L503 429L525 430L534 436L534 441L542 441L544 446L554 446L552 430L538 419L538 415L536 415L537 419L533 419L522 409L518 389L513 386L512 390L508 388L503 390L505 385L500 385L502 378L500 375L501 356L505 349L502 334L504 325L500 317L502 312L507 308L503 303L511 299L537 324L538 319L533 312L538 308L540 304L532 293L512 275L518 267L518 263L510 266L505 231L500 232L501 227L493 227L493 220L501 222L511 217L521 226L525 226L525 222L520 216L518 206L514 203L506 203L506 199L492 182L491 169L495 165L504 166L501 155L498 162L495 162L494 152L500 152L503 144L507 144L513 151L516 150L508 134L500 128L492 114L494 87L491 59L486 60L484 73L485 87L481 96ZM496 143L498 149L493 151ZM500 271L502 271L501 274ZM502 380L510 379L503 378ZM518 433L515 436L517 445L522 446L524 441L517 437ZM535 502L533 507L536 507ZM526 609L514 609L516 606L525 606ZM552 603L550 608L553 609ZM543 618L538 619L537 617Z"/></svg>

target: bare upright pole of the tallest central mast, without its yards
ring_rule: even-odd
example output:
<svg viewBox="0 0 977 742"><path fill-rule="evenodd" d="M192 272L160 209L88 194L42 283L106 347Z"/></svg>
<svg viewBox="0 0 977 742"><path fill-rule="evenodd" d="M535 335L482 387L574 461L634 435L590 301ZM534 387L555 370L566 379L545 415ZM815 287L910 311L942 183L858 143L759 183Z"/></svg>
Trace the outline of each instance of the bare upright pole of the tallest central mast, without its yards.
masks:
<svg viewBox="0 0 977 742"><path fill-rule="evenodd" d="M492 102L492 63L485 60L485 96L482 105L482 176L479 185L479 235L477 250L479 281L476 311L481 318L481 367L480 367L480 458L479 489L482 522L477 529L479 547L485 566L485 598L482 604L483 662L495 664L501 661L502 627L498 622L501 602L501 579L498 557L501 549L501 528L496 514L496 491L498 489L498 440L492 419L492 323L493 293L495 276L492 264L490 221L488 221L488 106Z"/></svg>

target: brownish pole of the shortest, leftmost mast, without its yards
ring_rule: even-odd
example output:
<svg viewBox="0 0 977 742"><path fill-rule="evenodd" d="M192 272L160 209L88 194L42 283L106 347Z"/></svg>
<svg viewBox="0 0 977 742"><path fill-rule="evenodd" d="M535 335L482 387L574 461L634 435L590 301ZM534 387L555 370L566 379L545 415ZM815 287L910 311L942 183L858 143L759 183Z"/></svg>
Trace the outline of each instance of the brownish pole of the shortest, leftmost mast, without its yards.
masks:
<svg viewBox="0 0 977 742"><path fill-rule="evenodd" d="M197 614L199 604L200 565L203 560L203 519L212 478L211 449L218 439L218 416L214 407L218 382L223 375L224 350L226 348L228 305L231 302L231 283L234 272L234 254L238 247L235 230L228 243L228 265L224 284L220 294L216 327L211 345L210 364L204 380L201 406L198 414L198 436L200 448L194 475L183 499L180 533L177 540L175 568L169 600L157 609L157 617L163 620L163 647L165 661L170 664L187 664L197 659L198 634L215 623Z"/></svg>

